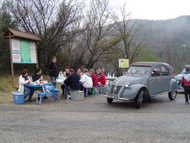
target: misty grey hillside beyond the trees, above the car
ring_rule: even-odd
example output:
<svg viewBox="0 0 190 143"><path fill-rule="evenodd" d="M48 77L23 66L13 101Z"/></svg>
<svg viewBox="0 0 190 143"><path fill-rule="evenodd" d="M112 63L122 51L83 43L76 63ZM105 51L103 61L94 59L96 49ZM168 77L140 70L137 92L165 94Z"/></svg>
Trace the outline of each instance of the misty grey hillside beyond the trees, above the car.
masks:
<svg viewBox="0 0 190 143"><path fill-rule="evenodd" d="M143 41L163 61L175 65L176 68L190 62L190 16L132 21L136 23L136 39ZM180 62L176 65L177 61Z"/></svg>

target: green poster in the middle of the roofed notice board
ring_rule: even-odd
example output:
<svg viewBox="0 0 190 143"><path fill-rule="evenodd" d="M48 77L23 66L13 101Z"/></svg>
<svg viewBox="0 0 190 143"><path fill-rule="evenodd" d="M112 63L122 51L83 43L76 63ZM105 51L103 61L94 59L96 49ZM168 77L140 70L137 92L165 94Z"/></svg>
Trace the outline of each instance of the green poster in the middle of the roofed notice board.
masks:
<svg viewBox="0 0 190 143"><path fill-rule="evenodd" d="M22 63L31 63L30 42L26 40L20 41L20 54Z"/></svg>

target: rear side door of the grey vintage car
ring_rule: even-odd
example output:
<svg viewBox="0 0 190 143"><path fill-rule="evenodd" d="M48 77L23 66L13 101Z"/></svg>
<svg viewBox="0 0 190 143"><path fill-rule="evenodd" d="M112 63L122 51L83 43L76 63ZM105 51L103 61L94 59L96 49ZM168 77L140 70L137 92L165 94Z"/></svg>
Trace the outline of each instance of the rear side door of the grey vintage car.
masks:
<svg viewBox="0 0 190 143"><path fill-rule="evenodd" d="M170 73L170 70L167 66L161 65L161 74L160 74L160 82L161 82L161 91L168 91L170 88L170 80L172 78L172 75Z"/></svg>

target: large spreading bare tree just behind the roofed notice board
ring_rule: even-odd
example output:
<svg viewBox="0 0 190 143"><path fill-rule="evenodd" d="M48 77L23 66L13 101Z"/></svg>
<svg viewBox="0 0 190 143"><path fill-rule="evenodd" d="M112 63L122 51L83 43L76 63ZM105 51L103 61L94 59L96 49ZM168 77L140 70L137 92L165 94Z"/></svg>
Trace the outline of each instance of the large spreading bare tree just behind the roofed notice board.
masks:
<svg viewBox="0 0 190 143"><path fill-rule="evenodd" d="M21 29L41 37L38 49L42 66L78 33L81 7L76 0L5 0L5 3Z"/></svg>

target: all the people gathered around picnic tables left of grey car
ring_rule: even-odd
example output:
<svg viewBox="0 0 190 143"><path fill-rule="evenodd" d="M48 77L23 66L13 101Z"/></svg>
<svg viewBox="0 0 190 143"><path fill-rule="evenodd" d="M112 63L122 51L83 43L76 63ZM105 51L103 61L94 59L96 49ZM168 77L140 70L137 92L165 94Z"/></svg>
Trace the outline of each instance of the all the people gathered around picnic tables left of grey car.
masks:
<svg viewBox="0 0 190 143"><path fill-rule="evenodd" d="M59 75L60 69L58 68L57 58L53 57L50 64L48 65L48 75L49 80L56 87L57 78ZM64 70L65 80L63 81L62 95L67 99L72 91L82 90L84 91L84 96L88 96L89 91L95 90L98 94L104 93L104 87L106 85L106 75L104 74L103 69L98 68L96 71L94 69L86 68L68 68ZM25 95L25 98L28 98L28 101L32 100L32 95L34 94L34 88L25 86L28 83L35 82L41 83L43 81L42 70L37 68L32 76L29 76L29 73L24 69L19 76L19 89L18 91Z"/></svg>

